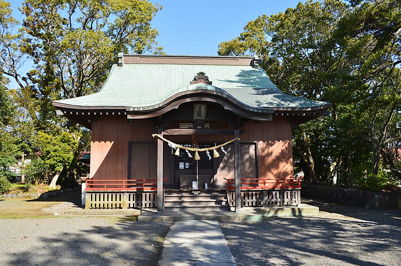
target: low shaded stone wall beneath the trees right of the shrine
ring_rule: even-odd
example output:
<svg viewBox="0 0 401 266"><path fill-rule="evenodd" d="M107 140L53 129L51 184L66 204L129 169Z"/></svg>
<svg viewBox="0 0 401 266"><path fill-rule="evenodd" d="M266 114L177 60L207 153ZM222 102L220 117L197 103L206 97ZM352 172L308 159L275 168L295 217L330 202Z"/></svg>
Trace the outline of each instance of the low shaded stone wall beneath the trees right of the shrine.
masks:
<svg viewBox="0 0 401 266"><path fill-rule="evenodd" d="M374 192L302 184L301 196L364 208L401 208L401 192Z"/></svg>

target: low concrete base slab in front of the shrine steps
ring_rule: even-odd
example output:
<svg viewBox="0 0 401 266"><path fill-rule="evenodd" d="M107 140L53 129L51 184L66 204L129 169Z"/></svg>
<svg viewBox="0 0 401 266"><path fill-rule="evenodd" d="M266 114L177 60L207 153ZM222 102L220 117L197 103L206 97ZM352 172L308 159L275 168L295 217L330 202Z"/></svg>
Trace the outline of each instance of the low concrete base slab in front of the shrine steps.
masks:
<svg viewBox="0 0 401 266"><path fill-rule="evenodd" d="M230 210L164 210L157 214L155 209L144 209L139 221L163 220L221 220L221 221L261 221L266 216L319 215L319 208L308 204L299 206L243 207L241 212Z"/></svg>

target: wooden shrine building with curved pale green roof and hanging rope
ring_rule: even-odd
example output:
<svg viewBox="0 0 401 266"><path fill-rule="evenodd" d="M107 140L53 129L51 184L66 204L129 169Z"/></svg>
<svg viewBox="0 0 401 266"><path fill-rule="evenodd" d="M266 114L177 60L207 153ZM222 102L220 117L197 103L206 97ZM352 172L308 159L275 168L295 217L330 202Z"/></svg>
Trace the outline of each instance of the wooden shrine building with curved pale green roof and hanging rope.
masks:
<svg viewBox="0 0 401 266"><path fill-rule="evenodd" d="M160 211L297 205L291 126L330 107L255 57L125 54L99 92L53 104L92 130L86 208Z"/></svg>

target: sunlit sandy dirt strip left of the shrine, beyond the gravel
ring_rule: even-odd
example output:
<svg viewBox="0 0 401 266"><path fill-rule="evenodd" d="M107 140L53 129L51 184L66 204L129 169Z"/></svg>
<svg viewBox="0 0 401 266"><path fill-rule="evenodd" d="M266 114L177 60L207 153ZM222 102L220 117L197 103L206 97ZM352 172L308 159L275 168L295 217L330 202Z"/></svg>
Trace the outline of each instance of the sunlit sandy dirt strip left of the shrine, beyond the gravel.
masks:
<svg viewBox="0 0 401 266"><path fill-rule="evenodd" d="M1 198L0 219L54 217L53 213L45 213L41 209L48 208L61 201L74 202L80 197L81 191L76 190L49 198Z"/></svg>

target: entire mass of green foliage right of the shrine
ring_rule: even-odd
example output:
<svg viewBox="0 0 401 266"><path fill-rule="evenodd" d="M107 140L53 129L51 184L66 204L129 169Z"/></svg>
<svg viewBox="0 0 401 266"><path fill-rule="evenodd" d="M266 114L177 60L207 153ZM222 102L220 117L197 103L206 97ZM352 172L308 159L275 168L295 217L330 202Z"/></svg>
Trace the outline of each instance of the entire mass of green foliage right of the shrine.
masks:
<svg viewBox="0 0 401 266"><path fill-rule="evenodd" d="M294 164L305 179L350 185L380 167L401 179L400 44L397 0L308 0L249 21L218 53L256 53L284 92L331 102L328 117L293 127Z"/></svg>

